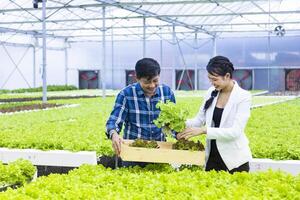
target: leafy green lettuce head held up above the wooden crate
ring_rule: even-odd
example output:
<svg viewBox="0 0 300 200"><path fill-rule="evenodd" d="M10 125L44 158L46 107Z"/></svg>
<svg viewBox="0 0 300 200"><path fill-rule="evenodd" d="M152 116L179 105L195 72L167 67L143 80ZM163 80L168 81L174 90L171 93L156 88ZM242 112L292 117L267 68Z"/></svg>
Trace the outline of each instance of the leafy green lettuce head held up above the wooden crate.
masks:
<svg viewBox="0 0 300 200"><path fill-rule="evenodd" d="M182 132L185 127L185 121L188 116L188 111L183 107L171 101L158 102L156 107L160 109L160 114L154 124L158 128L162 128L165 135L172 135L172 131Z"/></svg>

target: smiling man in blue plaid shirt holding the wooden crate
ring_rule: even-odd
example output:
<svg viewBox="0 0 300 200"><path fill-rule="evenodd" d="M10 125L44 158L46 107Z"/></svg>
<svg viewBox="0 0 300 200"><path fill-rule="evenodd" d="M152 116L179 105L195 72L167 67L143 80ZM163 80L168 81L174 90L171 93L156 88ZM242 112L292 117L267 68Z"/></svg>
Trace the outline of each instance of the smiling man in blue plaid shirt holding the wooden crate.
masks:
<svg viewBox="0 0 300 200"><path fill-rule="evenodd" d="M160 112L156 104L167 100L175 103L175 96L171 89L166 85L159 85L160 66L156 60L152 58L139 60L135 65L135 72L137 83L121 90L106 123L106 134L112 140L116 155L120 155L121 152L123 139L119 134L123 123L125 124L124 139L165 141L161 128L153 123ZM125 166L128 164L128 162L123 163Z"/></svg>

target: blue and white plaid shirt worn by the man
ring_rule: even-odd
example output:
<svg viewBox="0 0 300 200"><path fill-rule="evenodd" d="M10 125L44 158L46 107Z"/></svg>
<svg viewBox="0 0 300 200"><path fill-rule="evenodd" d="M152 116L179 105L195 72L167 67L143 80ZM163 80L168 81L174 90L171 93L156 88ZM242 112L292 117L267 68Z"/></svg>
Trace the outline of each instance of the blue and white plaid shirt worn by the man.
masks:
<svg viewBox="0 0 300 200"><path fill-rule="evenodd" d="M125 123L124 139L165 141L161 128L153 123L160 113L156 104L161 100L175 103L174 93L166 85L159 85L152 97L145 96L139 83L124 88L118 94L114 109L106 123L107 137L111 138L113 129L120 133Z"/></svg>

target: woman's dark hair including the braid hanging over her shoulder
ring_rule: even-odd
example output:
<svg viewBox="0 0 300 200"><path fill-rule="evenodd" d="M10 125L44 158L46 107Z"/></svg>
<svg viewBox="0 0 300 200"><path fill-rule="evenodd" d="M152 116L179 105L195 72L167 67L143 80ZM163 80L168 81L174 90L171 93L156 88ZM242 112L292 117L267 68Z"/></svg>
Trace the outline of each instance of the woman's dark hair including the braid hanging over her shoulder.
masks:
<svg viewBox="0 0 300 200"><path fill-rule="evenodd" d="M211 58L206 66L206 70L209 74L225 76L227 73L232 78L232 72L234 71L233 64L230 60L224 56L215 56ZM212 104L214 98L218 95L218 90L214 90L210 94L210 98L204 104L204 111L206 111Z"/></svg>

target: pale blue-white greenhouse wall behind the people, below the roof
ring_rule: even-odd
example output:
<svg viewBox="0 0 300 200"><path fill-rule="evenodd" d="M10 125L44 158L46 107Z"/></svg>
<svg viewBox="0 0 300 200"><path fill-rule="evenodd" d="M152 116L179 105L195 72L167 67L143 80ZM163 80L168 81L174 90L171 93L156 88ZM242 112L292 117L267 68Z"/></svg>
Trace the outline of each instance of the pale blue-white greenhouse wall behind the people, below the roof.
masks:
<svg viewBox="0 0 300 200"><path fill-rule="evenodd" d="M52 43L51 43L52 44ZM216 40L218 55L230 58L236 69L253 69L253 89L284 90L284 69L300 68L300 37L268 38L219 38ZM62 46L60 46L62 47ZM27 47L6 47L17 64ZM143 42L107 41L105 72L102 67L101 42L71 43L68 48L68 84L79 86L79 70L100 70L100 78L105 74L106 88L121 89L126 86L126 70L134 70L137 60L143 57ZM41 49L36 54L36 86L42 85ZM270 56L268 56L270 52ZM47 51L47 83L65 84L64 50ZM2 89L33 87L33 48L29 48L18 70L11 62L3 47L0 68L0 87ZM175 88L175 70L198 69L197 88L207 89L209 82L205 70L213 56L213 40L170 40L146 41L146 57L156 59L162 68L161 81ZM267 70L270 68L269 70ZM171 74L171 75L170 75ZM8 78L10 77L10 78ZM25 81L26 79L26 81ZM268 81L269 80L269 81ZM101 85L100 85L101 86Z"/></svg>

